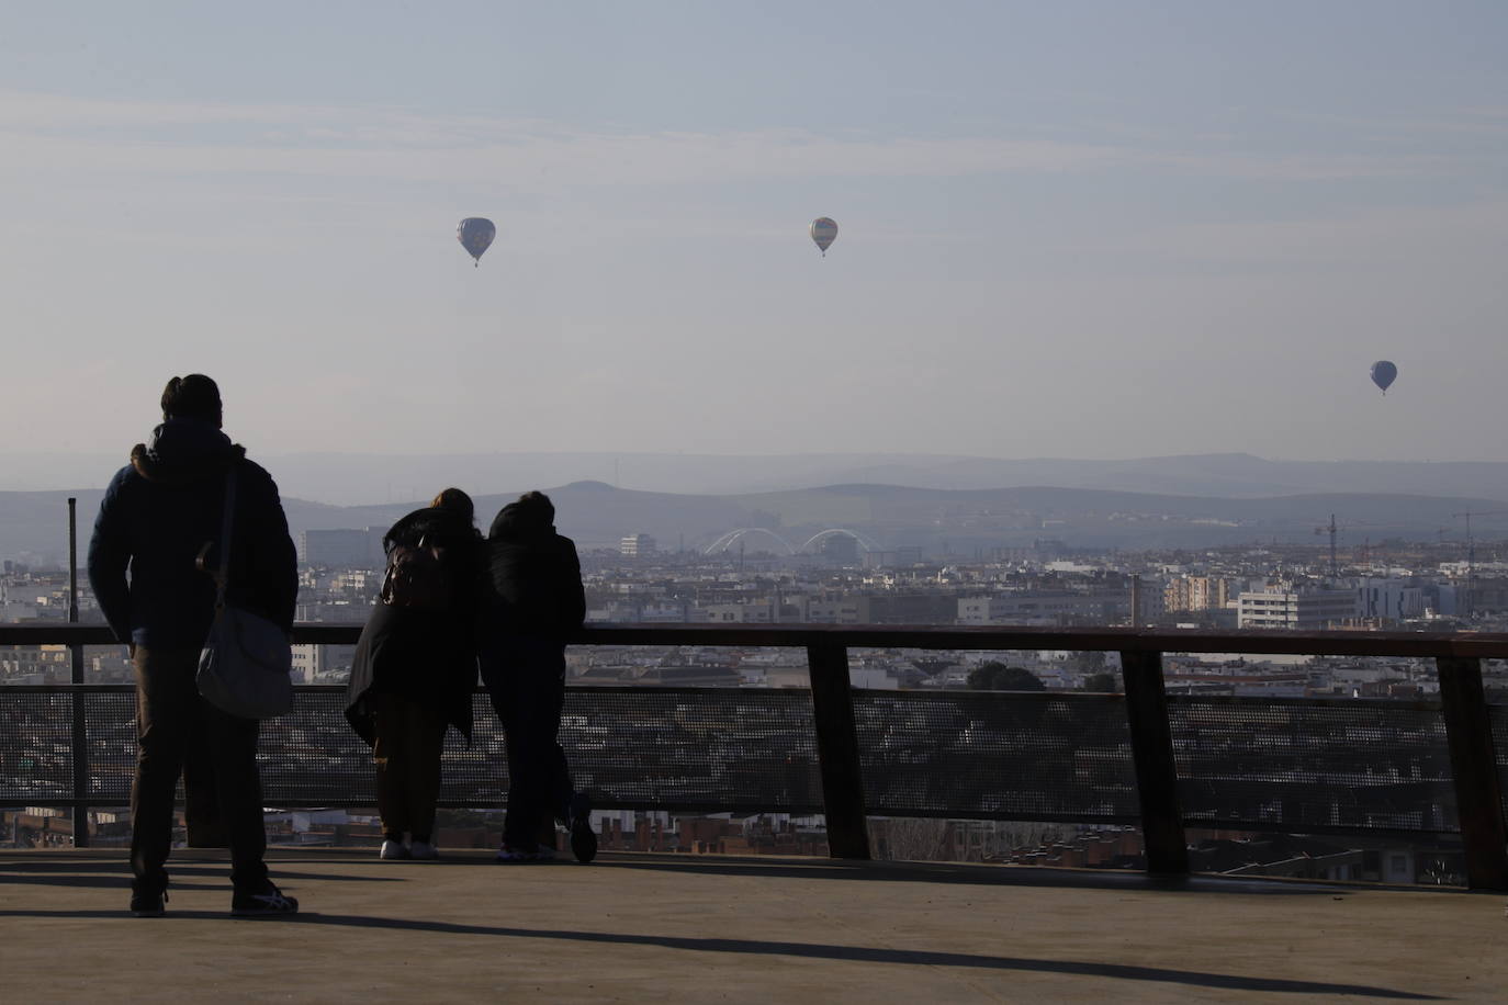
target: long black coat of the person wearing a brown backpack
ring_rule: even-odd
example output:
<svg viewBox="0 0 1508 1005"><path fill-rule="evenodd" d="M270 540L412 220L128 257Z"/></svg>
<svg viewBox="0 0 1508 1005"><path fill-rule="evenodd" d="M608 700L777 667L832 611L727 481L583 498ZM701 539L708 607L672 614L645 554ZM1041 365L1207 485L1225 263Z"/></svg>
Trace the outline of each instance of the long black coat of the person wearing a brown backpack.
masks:
<svg viewBox="0 0 1508 1005"><path fill-rule="evenodd" d="M383 551L391 554L400 544L418 545L421 541L442 548L454 604L449 610L418 610L379 600L372 607L356 643L345 687L345 719L366 743L375 738L365 701L371 693L403 695L442 711L446 722L470 738L481 535L470 521L446 509L416 509L383 535Z"/></svg>

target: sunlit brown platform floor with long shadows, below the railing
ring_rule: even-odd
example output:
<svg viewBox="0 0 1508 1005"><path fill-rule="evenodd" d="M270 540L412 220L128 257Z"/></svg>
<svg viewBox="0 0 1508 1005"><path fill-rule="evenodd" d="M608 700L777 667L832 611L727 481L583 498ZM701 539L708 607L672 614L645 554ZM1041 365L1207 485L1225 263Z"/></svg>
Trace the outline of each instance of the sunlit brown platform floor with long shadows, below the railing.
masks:
<svg viewBox="0 0 1508 1005"><path fill-rule="evenodd" d="M605 853L274 850L288 921L176 851L166 919L119 850L0 851L8 1000L1500 1000L1502 895L1274 880Z"/></svg>

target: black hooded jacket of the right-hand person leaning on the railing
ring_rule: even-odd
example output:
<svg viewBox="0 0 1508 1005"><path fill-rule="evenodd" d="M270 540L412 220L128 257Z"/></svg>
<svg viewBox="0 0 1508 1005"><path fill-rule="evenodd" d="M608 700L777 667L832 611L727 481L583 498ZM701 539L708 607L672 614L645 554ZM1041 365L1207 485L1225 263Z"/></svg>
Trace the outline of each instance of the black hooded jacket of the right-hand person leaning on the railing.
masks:
<svg viewBox="0 0 1508 1005"><path fill-rule="evenodd" d="M487 530L483 631L558 639L587 618L576 544L555 532L547 506L504 506Z"/></svg>

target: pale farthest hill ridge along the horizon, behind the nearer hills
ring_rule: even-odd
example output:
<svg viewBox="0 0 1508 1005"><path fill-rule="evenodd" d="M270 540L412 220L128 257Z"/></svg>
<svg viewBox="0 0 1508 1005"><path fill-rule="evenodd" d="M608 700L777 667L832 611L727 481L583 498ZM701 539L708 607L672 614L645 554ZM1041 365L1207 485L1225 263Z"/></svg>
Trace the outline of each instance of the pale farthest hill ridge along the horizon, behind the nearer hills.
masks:
<svg viewBox="0 0 1508 1005"><path fill-rule="evenodd" d="M597 481L639 491L743 496L823 485L988 490L1051 485L1166 496L1261 499L1378 493L1508 500L1508 463L1268 461L1250 454L1128 461L1000 460L929 454L259 454L285 496L403 505L445 485L474 494ZM0 490L103 488L124 455L0 454Z"/></svg>

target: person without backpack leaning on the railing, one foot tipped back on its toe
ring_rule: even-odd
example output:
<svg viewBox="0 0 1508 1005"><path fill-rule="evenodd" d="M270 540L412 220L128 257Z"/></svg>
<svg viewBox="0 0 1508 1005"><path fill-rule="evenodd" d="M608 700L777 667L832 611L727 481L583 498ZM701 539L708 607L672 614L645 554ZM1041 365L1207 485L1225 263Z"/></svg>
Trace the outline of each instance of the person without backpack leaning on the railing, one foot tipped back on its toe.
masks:
<svg viewBox="0 0 1508 1005"><path fill-rule="evenodd" d="M498 860L553 857L553 847L538 839L559 818L576 859L591 862L591 803L572 788L556 743L566 637L585 619L587 597L576 545L555 532L555 506L543 493L525 493L492 521L480 616L483 683L508 750L508 817Z"/></svg>

